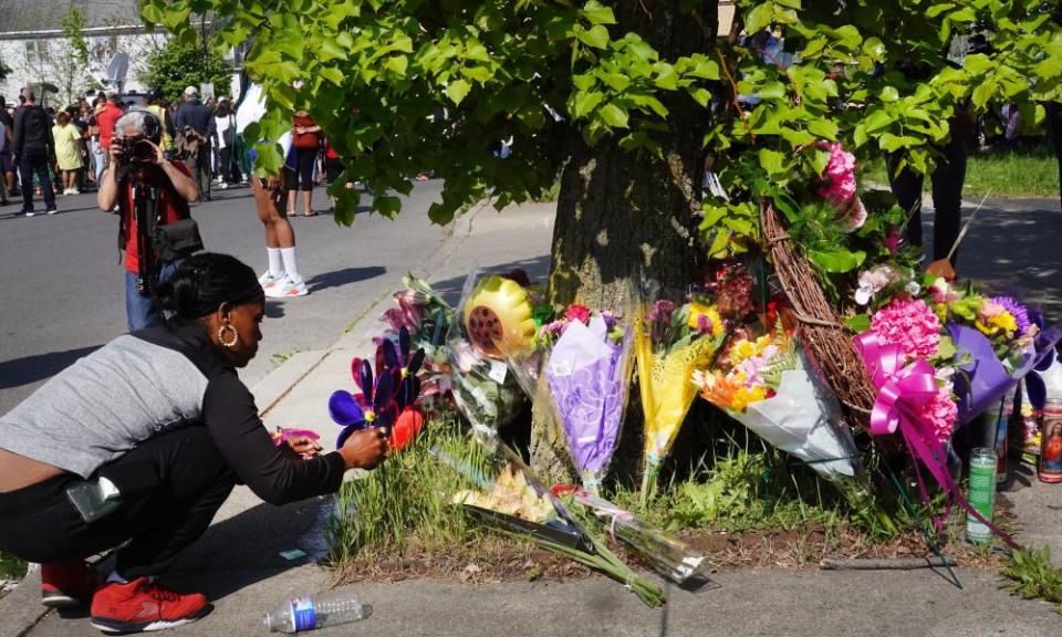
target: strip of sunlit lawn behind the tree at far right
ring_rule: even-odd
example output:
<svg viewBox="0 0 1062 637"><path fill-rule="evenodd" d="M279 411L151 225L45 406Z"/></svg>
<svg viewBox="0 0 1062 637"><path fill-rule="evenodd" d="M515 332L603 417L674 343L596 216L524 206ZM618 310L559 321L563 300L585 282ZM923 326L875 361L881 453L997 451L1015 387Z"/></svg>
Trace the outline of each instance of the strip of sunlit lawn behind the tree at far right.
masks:
<svg viewBox="0 0 1062 637"><path fill-rule="evenodd" d="M866 167L864 179L888 184L885 161L877 159ZM929 190L930 181L925 180ZM1059 196L1059 164L1047 146L1013 152L974 153L966 167L966 196L1000 198Z"/></svg>

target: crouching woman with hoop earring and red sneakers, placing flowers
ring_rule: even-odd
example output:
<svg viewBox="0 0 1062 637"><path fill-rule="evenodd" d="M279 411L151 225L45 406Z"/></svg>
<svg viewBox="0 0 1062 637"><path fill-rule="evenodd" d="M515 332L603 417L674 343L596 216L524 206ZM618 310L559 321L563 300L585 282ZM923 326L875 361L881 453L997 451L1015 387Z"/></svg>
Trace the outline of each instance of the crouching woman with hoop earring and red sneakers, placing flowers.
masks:
<svg viewBox="0 0 1062 637"><path fill-rule="evenodd" d="M262 338L253 270L198 254L159 296L174 313L166 326L112 341L0 417L0 551L42 564L45 605L91 599L105 633L209 610L202 595L154 576L202 535L235 484L283 504L339 490L344 471L386 452L382 430L325 455L309 438L273 445L236 373ZM85 557L125 542L97 583Z"/></svg>

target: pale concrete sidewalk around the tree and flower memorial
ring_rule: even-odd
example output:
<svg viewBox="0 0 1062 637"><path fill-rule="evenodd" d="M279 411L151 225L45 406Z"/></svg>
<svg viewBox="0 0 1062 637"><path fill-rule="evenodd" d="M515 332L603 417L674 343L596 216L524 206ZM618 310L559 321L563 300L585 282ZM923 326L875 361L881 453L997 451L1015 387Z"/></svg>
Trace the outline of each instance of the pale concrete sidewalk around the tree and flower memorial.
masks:
<svg viewBox="0 0 1062 637"><path fill-rule="evenodd" d="M974 202L976 205L976 202ZM1047 206L1051 208L1045 208ZM1054 211L1058 202L1044 202ZM1037 205L1031 205L1037 208ZM995 241L990 210L983 210L965 250L980 252L978 236ZM999 221L1033 211L996 209ZM1037 212L1039 213L1039 212ZM430 254L410 255L413 271L456 300L467 273L477 267L521 267L541 279L549 267L552 205L523 206L497 215L473 211ZM1059 216L1053 215L1053 228ZM1041 219L1042 220L1042 219ZM1040 228L1043 233L1043 228ZM1047 236L1051 236L1050 232ZM998 249L998 246L996 246ZM983 249L990 250L988 246ZM1019 257L1020 258L1020 257ZM1059 283L1055 283L1058 285ZM396 276L393 288L400 281ZM1053 290L1051 291L1053 292ZM1059 296L1054 296L1059 299ZM302 352L254 388L269 428L313 428L326 448L337 428L326 413L327 397L350 389L350 362L371 351L379 332L376 317L391 306L388 296L352 303L358 321L331 347ZM268 325L267 325L268 328ZM1013 495L1023 531L1020 541L1062 549L1058 509L1060 490L1033 478ZM166 582L178 589L201 591L215 610L173 635L237 636L264 633L267 610L293 594L329 586L327 573L308 560L285 561L279 552L321 549L324 501L273 508L246 488L226 502L206 536L183 555ZM1062 556L1062 550L1055 550ZM933 571L790 572L753 570L716 577L717 587L697 592L668 589L664 609L644 608L624 588L604 578L571 584L456 585L430 582L365 584L362 598L373 616L323 635L1059 635L1062 619L1051 606L1022 602L998 591L991 575L960 572L964 588ZM44 614L39 576L0 599L0 637L59 637L98 634L84 616Z"/></svg>

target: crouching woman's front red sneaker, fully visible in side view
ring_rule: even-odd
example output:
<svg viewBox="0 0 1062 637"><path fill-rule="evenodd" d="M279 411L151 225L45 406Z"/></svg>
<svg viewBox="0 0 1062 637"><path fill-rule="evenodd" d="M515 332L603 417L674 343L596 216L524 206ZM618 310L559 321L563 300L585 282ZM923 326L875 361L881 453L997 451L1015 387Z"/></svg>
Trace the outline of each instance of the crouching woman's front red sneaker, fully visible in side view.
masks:
<svg viewBox="0 0 1062 637"><path fill-rule="evenodd" d="M92 597L92 625L111 635L176 628L209 612L207 598L199 593L174 593L147 577L128 584L108 582Z"/></svg>

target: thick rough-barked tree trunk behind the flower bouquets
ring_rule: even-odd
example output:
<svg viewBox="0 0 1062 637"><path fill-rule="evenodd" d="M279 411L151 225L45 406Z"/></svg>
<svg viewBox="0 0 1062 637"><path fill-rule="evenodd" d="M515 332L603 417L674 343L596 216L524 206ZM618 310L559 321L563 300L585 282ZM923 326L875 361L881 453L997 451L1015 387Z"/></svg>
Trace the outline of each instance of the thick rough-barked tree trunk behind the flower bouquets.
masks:
<svg viewBox="0 0 1062 637"><path fill-rule="evenodd" d="M680 4L693 9L683 11ZM624 0L613 9L618 22L611 28L613 36L637 32L662 60L714 51L716 1ZM668 130L654 138L662 157L645 149L622 150L615 138L589 147L577 134L569 137L553 227L549 295L554 306L582 303L622 312L625 296L641 289L643 278L675 297L701 271L697 211L709 114L684 93L662 92L659 97L669 111ZM641 410L635 410L616 455L625 468L637 467L632 460L641 456ZM563 445L535 409L531 451L540 474L572 478Z"/></svg>

